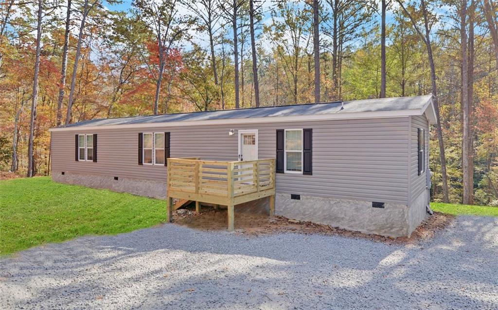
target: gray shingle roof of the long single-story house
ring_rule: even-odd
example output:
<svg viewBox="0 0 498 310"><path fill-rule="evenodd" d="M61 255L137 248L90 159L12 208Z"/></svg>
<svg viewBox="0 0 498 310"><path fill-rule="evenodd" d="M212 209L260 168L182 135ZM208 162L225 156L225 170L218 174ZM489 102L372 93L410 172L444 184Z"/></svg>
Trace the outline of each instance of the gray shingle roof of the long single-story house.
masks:
<svg viewBox="0 0 498 310"><path fill-rule="evenodd" d="M344 101L344 109L341 110L342 102L329 102L319 104L297 104L272 107L217 110L193 113L177 113L150 116L134 116L109 119L95 119L82 121L62 126L63 128L80 126L106 126L106 125L131 125L131 124L154 124L181 121L205 121L223 119L245 119L254 117L278 117L278 116L306 116L317 114L358 113L358 112L380 112L380 111L405 111L422 110L431 100L432 95L382 98ZM422 111L423 113L423 111Z"/></svg>

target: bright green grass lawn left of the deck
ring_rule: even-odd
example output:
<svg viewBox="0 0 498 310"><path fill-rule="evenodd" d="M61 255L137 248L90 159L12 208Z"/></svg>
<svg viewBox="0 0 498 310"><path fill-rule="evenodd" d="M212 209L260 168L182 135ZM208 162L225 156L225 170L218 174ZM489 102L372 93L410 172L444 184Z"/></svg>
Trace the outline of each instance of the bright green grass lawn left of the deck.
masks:
<svg viewBox="0 0 498 310"><path fill-rule="evenodd" d="M53 182L0 181L0 255L85 234L115 234L166 221L166 202Z"/></svg>

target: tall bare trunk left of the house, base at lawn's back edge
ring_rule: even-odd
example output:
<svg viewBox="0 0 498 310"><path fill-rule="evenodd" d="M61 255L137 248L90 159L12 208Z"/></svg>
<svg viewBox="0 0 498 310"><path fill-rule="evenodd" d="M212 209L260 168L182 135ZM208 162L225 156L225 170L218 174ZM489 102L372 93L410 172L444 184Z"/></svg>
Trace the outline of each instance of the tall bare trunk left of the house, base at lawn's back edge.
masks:
<svg viewBox="0 0 498 310"><path fill-rule="evenodd" d="M33 94L31 97L31 120L29 122L29 142L28 142L28 173L27 177L32 177L33 172L33 141L34 125L36 119L36 103L38 100L38 75L40 73L40 54L41 54L41 19L43 1L38 0L38 21L36 28L36 58L34 63Z"/></svg>

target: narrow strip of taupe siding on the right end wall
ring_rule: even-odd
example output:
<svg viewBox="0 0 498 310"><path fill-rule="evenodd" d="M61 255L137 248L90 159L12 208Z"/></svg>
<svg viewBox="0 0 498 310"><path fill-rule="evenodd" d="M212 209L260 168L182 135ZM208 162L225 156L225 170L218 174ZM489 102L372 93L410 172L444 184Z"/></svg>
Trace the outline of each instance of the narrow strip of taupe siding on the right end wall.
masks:
<svg viewBox="0 0 498 310"><path fill-rule="evenodd" d="M426 189L426 173L429 169L429 122L425 116L411 116L411 151L410 151L410 201L417 198ZM425 171L418 175L418 131L424 130L425 136Z"/></svg>

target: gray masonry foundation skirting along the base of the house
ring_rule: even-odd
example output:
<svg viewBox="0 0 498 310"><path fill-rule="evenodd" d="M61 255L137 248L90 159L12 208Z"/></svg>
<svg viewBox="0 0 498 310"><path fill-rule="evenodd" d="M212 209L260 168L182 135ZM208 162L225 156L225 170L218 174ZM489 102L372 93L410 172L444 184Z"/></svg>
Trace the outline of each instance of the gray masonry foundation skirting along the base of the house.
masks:
<svg viewBox="0 0 498 310"><path fill-rule="evenodd" d="M106 188L140 196L165 199L166 182L113 176L53 171L56 182ZM384 209L372 207L370 201L333 199L301 195L300 200L290 199L290 194L276 194L275 214L290 219L327 224L332 227L376 233L385 236L409 236L426 218L427 191L415 198L411 207L386 203ZM268 197L236 206L236 213L267 213ZM237 222L237 219L236 219Z"/></svg>

